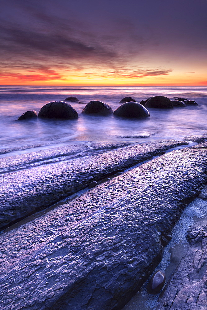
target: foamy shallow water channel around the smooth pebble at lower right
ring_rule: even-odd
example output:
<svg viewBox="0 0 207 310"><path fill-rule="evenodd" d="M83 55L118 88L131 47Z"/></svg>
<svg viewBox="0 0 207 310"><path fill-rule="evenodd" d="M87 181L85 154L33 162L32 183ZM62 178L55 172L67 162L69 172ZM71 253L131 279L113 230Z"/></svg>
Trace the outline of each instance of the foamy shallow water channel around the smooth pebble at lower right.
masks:
<svg viewBox="0 0 207 310"><path fill-rule="evenodd" d="M157 310L160 293L157 295L148 294L146 291L148 282L155 272L162 270L166 273L167 283L187 249L187 230L197 219L207 219L207 200L196 198L185 208L180 220L172 230L173 238L164 249L163 259L139 292L124 306L123 310ZM173 254L173 261L171 260L171 253Z"/></svg>

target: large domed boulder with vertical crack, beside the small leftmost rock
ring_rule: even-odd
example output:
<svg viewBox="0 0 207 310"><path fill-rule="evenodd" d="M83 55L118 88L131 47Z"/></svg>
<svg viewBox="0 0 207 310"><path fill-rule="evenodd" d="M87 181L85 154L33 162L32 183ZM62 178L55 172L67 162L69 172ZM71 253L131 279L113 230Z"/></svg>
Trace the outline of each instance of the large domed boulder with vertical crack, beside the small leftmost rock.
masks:
<svg viewBox="0 0 207 310"><path fill-rule="evenodd" d="M42 118L78 118L76 110L64 101L53 101L45 104L39 111L38 117Z"/></svg>

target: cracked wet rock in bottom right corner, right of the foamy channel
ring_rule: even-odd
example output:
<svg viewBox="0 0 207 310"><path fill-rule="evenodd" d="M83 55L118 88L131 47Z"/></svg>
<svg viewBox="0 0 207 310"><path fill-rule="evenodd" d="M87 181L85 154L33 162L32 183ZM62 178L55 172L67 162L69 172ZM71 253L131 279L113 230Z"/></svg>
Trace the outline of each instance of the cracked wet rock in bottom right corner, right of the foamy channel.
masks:
<svg viewBox="0 0 207 310"><path fill-rule="evenodd" d="M188 231L188 250L158 299L157 310L207 308L207 222Z"/></svg>

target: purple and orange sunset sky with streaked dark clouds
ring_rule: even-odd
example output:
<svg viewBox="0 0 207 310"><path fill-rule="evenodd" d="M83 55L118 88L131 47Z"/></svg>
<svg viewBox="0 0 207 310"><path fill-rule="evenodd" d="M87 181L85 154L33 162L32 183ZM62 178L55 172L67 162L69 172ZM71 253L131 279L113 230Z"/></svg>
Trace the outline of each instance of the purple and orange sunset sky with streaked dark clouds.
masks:
<svg viewBox="0 0 207 310"><path fill-rule="evenodd" d="M207 85L206 0L0 0L1 85Z"/></svg>

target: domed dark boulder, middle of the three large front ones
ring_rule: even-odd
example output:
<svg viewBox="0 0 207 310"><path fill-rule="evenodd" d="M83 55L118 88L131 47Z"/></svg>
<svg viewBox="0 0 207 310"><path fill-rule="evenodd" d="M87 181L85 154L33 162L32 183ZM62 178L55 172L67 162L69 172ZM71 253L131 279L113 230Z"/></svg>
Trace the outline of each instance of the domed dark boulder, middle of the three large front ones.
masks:
<svg viewBox="0 0 207 310"><path fill-rule="evenodd" d="M90 101L86 104L83 111L81 113L84 114L97 114L97 115L108 115L113 113L112 108L101 101Z"/></svg>

